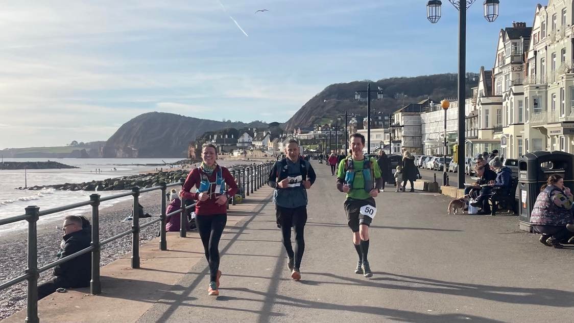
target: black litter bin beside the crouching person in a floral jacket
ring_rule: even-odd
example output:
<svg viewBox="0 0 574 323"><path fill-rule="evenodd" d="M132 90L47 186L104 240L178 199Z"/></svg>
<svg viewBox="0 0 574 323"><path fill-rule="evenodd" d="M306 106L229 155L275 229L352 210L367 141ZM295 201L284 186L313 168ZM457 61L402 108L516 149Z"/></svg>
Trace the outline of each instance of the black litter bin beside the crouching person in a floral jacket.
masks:
<svg viewBox="0 0 574 323"><path fill-rule="evenodd" d="M518 218L522 230L532 232L530 213L548 177L558 174L564 185L574 191L574 155L561 151L527 153L518 160Z"/></svg>

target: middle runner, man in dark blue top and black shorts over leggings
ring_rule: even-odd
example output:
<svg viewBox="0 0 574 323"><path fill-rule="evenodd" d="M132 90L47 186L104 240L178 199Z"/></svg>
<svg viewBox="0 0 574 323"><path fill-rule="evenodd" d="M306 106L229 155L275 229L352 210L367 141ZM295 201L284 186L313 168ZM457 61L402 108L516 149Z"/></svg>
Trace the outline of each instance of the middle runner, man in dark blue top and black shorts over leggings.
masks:
<svg viewBox="0 0 574 323"><path fill-rule="evenodd" d="M307 190L317 176L309 161L299 155L299 144L289 140L284 159L278 160L269 174L267 184L275 189L277 226L281 228L283 245L289 257L287 267L293 280L301 279L301 259L305 251L303 232L307 223ZM295 232L295 250L291 245L291 228Z"/></svg>

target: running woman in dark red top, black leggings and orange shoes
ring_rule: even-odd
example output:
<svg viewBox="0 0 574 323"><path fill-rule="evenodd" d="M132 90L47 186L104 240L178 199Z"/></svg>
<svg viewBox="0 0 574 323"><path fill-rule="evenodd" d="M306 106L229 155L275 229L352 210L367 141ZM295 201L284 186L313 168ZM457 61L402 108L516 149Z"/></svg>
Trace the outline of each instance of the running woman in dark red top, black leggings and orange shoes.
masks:
<svg viewBox="0 0 574 323"><path fill-rule="evenodd" d="M216 163L215 145L204 144L201 166L193 168L181 189L181 197L195 199L195 221L210 265L208 295L219 295L219 239L227 222L227 199L237 192L237 184L227 168ZM192 187L197 193L191 193Z"/></svg>

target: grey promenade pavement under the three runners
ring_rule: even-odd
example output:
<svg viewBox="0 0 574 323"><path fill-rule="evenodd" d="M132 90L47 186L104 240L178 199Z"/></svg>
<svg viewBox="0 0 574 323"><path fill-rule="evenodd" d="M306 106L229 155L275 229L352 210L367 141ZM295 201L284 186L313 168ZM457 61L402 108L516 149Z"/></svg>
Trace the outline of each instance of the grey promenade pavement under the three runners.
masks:
<svg viewBox="0 0 574 323"><path fill-rule="evenodd" d="M153 293L131 291L126 301L106 295L104 286L103 295L83 297L96 306L86 316L80 313L89 311L88 304L75 310L77 300L59 294L58 302L41 302L41 321L67 322L54 314L65 311L76 313L69 322L103 321L97 311L106 313L106 322L139 323L572 321L572 247L540 244L536 235L518 230L516 217L447 215L449 199L436 193L379 194L370 230L374 275L355 274L344 194L328 167L313 166L319 178L309 190L300 282L290 279L272 190L265 189L225 230L219 297L207 295L207 262L197 245L181 245L181 253L196 258L187 267L174 259L149 271L141 288L153 285ZM172 274L171 282L154 283Z"/></svg>

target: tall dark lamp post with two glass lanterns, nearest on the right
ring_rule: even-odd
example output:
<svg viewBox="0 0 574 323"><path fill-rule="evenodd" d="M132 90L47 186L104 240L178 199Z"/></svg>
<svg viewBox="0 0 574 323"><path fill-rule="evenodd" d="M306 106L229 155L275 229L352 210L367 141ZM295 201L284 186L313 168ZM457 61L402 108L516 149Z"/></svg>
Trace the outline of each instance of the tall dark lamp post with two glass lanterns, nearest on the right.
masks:
<svg viewBox="0 0 574 323"><path fill-rule="evenodd" d="M467 9L476 0L448 0L452 3L457 10L459 10L459 126L458 126L458 144L457 149L457 160L460 162L464 160L464 122L465 122L465 108L464 108L464 98L466 97L466 16ZM462 5L461 5L462 3ZM484 0L484 18L487 21L495 21L498 17L498 5L499 0ZM426 18L432 23L436 24L441 17L441 5L443 3L440 0L430 0L426 3ZM464 172L459 170L458 172L458 183L459 189L464 187Z"/></svg>

